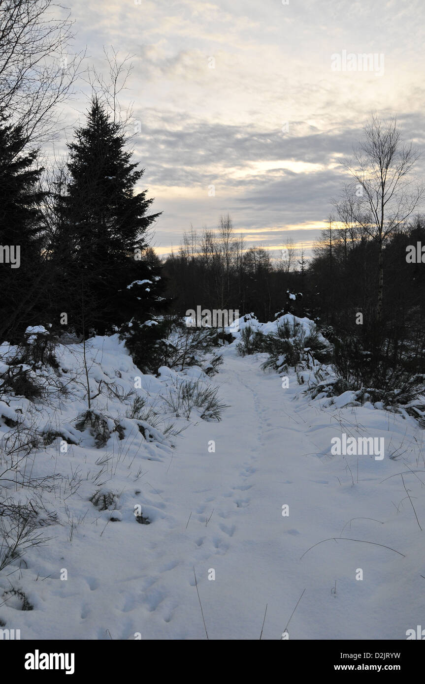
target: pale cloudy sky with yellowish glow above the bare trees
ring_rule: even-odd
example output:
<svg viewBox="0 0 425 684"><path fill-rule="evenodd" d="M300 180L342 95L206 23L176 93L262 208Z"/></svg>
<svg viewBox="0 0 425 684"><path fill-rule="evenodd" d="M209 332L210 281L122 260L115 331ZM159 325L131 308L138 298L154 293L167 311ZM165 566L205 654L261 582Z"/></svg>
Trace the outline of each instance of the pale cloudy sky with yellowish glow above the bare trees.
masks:
<svg viewBox="0 0 425 684"><path fill-rule="evenodd" d="M97 68L104 45L133 55L122 103L134 103L142 189L164 212L160 254L227 212L248 246L277 254L291 237L308 253L374 111L396 115L424 148L422 0L72 0L70 10L76 47ZM71 114L85 106L77 98Z"/></svg>

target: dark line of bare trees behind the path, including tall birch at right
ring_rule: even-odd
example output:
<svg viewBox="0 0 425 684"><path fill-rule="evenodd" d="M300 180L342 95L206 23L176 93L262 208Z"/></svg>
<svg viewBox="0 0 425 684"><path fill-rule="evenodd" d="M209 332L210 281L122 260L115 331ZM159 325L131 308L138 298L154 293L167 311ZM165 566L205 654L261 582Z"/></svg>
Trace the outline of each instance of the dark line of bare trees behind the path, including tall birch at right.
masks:
<svg viewBox="0 0 425 684"><path fill-rule="evenodd" d="M413 174L419 156L402 142L395 118L372 116L344 164L342 194L309 260L291 241L278 259L267 248L246 248L229 215L215 231L198 234L191 226L164 263L175 312L201 304L264 321L307 316L333 341L346 376L362 373L366 381L373 367L378 386L389 368L424 373L424 184Z"/></svg>

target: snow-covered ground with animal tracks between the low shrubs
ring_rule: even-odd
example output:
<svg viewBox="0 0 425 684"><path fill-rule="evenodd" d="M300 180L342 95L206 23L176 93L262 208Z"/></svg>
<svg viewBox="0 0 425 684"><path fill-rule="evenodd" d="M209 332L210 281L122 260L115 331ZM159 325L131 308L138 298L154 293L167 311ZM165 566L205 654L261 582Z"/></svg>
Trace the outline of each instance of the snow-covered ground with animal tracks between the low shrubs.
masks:
<svg viewBox="0 0 425 684"><path fill-rule="evenodd" d="M248 640L259 639L266 605L263 639L287 628L289 639L396 640L424 624L425 460L413 419L372 404L323 406L294 373L284 389L261 371L265 355L241 358L235 344L212 380L196 368L142 376L116 336L90 345L93 393L95 380L129 391L140 376L136 391L159 406L189 376L218 384L229 408L220 422L170 418L185 429L164 438L158 425L148 441L128 406L101 393L93 406L112 418L100 448L75 429L83 378L60 410L40 411L38 425L80 443L62 453L57 437L29 456L31 477L61 476L43 494L57 521L40 527L44 546L0 572L3 627L21 639L205 639L204 618L209 639ZM60 347L59 358L72 375L81 345ZM3 415L19 407L28 417L23 399ZM385 457L332 456L344 433L383 437ZM99 489L116 493L114 512L90 501ZM149 525L138 524L138 505ZM34 609L21 610L11 588Z"/></svg>

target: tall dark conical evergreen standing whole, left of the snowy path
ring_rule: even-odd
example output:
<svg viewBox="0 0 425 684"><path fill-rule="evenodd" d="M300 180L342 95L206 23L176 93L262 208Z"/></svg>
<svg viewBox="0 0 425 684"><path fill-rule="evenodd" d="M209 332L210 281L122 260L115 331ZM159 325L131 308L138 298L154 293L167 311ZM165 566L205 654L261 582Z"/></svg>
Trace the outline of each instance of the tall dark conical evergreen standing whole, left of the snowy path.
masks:
<svg viewBox="0 0 425 684"><path fill-rule="evenodd" d="M146 215L153 199L135 194L144 169L131 162L120 125L96 98L68 148L70 177L51 246L62 282L55 320L67 313L77 332L105 334L151 306L157 281L150 288L137 281L152 280L142 257L159 213Z"/></svg>

